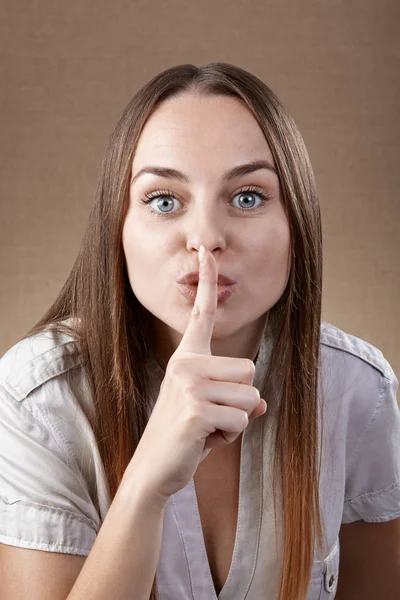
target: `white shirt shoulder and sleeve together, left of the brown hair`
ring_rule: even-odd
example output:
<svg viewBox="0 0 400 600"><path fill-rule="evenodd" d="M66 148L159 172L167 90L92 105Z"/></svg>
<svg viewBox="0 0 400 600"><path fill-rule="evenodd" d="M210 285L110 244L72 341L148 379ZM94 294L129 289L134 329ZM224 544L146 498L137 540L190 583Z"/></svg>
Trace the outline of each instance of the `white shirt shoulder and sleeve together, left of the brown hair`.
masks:
<svg viewBox="0 0 400 600"><path fill-rule="evenodd" d="M110 499L86 406L72 336L47 329L1 357L1 541L89 553Z"/></svg>

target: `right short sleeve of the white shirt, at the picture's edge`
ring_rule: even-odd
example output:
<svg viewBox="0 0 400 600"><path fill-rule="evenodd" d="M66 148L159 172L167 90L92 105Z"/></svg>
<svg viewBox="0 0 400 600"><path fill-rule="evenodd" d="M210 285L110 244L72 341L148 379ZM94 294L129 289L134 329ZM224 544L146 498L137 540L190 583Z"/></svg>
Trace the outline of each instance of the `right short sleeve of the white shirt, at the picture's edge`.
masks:
<svg viewBox="0 0 400 600"><path fill-rule="evenodd" d="M385 366L368 425L347 465L342 523L400 517L399 381L386 359Z"/></svg>

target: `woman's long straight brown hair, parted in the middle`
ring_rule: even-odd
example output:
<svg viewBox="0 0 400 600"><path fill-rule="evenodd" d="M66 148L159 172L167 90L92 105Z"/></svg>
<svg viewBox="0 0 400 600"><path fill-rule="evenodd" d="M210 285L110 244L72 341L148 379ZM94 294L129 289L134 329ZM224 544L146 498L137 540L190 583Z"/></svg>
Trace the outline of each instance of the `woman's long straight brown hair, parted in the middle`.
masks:
<svg viewBox="0 0 400 600"><path fill-rule="evenodd" d="M184 64L155 76L124 109L104 155L87 229L59 296L25 337L46 327L67 331L80 347L95 417L88 418L104 462L111 499L148 420L148 311L129 285L122 227L138 138L153 109L184 92L241 99L257 119L278 172L291 231L288 284L268 315L274 346L261 397L277 409L273 486L281 486L283 570L279 600L304 600L324 531L319 502L318 384L322 232L318 195L303 139L281 101L254 75L216 62ZM72 318L75 326L60 321ZM278 402L279 399L279 402ZM320 456L321 459L321 456ZM157 577L151 600L157 598Z"/></svg>

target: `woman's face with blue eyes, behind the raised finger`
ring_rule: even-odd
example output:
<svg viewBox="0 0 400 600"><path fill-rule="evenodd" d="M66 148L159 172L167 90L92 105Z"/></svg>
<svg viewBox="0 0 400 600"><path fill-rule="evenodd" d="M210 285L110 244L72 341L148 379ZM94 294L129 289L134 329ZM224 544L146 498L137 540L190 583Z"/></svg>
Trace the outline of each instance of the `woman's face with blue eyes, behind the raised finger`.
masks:
<svg viewBox="0 0 400 600"><path fill-rule="evenodd" d="M272 170L249 168L228 177L233 168L259 161ZM182 175L139 175L145 167ZM185 94L164 101L146 122L132 163L123 248L132 290L153 315L157 345L168 356L193 308L177 282L199 270L201 244L218 272L236 282L235 293L218 305L212 354L258 350L290 270L289 223L273 168L257 121L236 98ZM254 186L259 189L245 191ZM264 204L259 192L268 197ZM141 202L146 194L152 194L148 204Z"/></svg>

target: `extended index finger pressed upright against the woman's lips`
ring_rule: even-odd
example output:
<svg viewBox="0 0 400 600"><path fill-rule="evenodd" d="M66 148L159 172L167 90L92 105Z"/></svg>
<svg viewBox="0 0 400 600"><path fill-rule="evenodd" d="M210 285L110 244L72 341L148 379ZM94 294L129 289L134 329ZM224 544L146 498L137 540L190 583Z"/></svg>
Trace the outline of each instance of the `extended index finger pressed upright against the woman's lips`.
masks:
<svg viewBox="0 0 400 600"><path fill-rule="evenodd" d="M202 250L203 249L203 250ZM201 252L203 261L201 260ZM179 352L211 354L211 337L218 307L218 268L213 255L200 246L199 283L196 301L181 342Z"/></svg>

